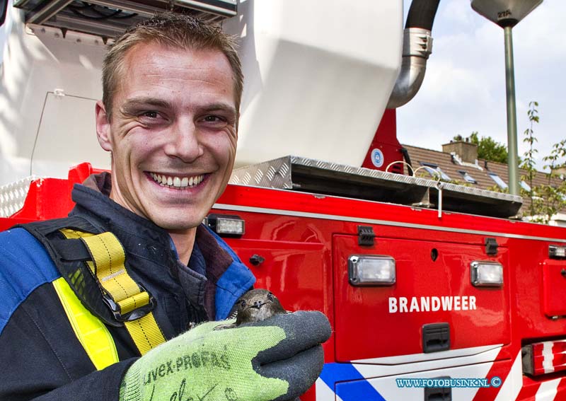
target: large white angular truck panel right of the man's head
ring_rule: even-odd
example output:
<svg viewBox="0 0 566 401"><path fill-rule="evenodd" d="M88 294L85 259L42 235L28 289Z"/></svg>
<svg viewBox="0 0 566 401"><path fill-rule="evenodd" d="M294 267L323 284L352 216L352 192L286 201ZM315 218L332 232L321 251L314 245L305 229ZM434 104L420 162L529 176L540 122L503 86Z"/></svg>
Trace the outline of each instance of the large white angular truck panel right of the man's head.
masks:
<svg viewBox="0 0 566 401"><path fill-rule="evenodd" d="M241 1L224 30L246 74L236 164L362 165L398 75L401 1Z"/></svg>

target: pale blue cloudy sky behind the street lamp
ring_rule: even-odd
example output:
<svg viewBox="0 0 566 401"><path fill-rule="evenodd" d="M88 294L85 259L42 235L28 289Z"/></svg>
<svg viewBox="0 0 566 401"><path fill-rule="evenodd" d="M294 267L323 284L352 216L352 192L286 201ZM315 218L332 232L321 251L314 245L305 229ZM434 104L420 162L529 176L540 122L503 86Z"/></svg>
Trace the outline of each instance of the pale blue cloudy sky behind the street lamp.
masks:
<svg viewBox="0 0 566 401"><path fill-rule="evenodd" d="M406 18L410 0L403 6ZM565 0L543 0L513 28L519 156L527 150L529 102L537 101L539 170L553 144L566 139L565 15ZM441 151L454 135L477 131L507 145L503 29L473 11L470 0L441 0L432 37L420 91L397 110L399 141Z"/></svg>

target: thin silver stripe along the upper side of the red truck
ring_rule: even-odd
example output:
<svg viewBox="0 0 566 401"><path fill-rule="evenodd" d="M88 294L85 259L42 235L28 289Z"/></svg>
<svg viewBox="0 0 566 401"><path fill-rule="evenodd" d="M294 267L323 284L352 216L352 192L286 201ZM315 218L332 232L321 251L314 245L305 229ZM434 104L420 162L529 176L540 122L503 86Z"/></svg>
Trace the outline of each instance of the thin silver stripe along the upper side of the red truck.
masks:
<svg viewBox="0 0 566 401"><path fill-rule="evenodd" d="M361 217L337 216L337 215L334 215L334 214L309 213L307 211L267 209L267 208L263 208L263 207L248 207L248 206L238 206L238 205L233 205L233 204L221 204L221 203L214 204L214 206L212 208L213 209L226 209L226 210L233 210L233 211L250 211L250 212L253 212L253 213L279 214L280 216L309 217L311 219L350 221L352 223L379 224L380 226L394 226L394 227L403 227L403 228L420 228L422 230L447 231L449 233L466 233L466 234L477 234L477 235L480 235L480 236L497 236L497 237L504 237L504 238L518 238L520 240L538 240L538 241L552 241L552 242L555 242L555 243L566 243L566 239L563 239L563 238L520 236L518 234L511 234L511 233L495 233L494 231L480 231L480 230L469 230L469 229L466 229L466 228L449 228L449 227L427 226L425 224L405 223L403 221L363 219ZM528 224L528 223L526 223L526 224Z"/></svg>

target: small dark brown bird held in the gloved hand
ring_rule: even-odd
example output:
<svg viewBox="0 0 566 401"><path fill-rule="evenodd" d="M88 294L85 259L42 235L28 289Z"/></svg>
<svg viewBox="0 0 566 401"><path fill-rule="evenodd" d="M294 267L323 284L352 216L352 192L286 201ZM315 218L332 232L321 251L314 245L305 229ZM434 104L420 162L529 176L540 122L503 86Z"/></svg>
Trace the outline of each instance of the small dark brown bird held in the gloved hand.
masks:
<svg viewBox="0 0 566 401"><path fill-rule="evenodd" d="M243 294L236 301L236 323L231 325L218 325L214 330L231 329L242 323L260 322L279 313L288 313L279 299L266 289L253 289Z"/></svg>

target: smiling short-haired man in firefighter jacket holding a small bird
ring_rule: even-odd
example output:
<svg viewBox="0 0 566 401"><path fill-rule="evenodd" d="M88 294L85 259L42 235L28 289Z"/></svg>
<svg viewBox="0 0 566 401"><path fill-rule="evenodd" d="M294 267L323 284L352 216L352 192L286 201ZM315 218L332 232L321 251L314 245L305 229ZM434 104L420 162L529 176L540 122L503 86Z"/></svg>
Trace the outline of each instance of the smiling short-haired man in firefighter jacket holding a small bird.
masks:
<svg viewBox="0 0 566 401"><path fill-rule="evenodd" d="M255 281L201 224L236 156L233 38L164 14L127 31L96 105L111 173L66 219L0 233L0 400L292 400L323 365L318 312L214 330Z"/></svg>

